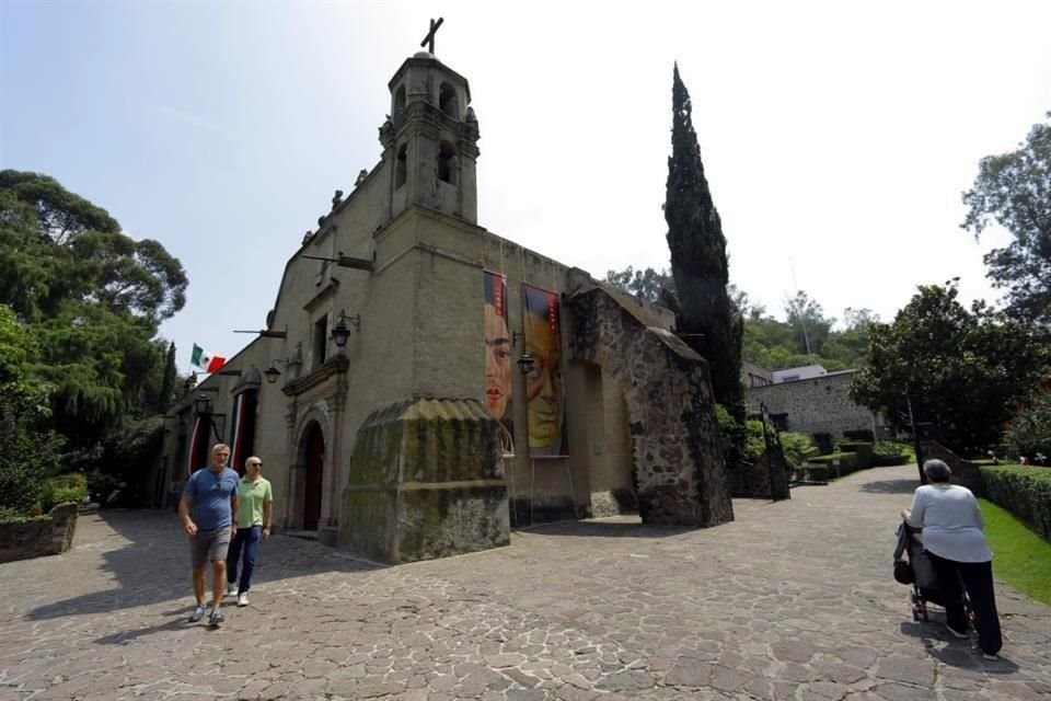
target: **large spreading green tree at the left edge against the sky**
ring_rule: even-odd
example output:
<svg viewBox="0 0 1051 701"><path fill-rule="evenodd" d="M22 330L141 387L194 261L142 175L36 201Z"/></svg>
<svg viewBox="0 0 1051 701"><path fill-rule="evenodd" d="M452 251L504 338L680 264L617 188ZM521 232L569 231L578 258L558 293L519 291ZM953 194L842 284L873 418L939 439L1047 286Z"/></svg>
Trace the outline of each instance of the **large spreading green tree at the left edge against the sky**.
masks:
<svg viewBox="0 0 1051 701"><path fill-rule="evenodd" d="M160 403L158 326L185 302L182 264L46 175L0 171L0 303L39 347L32 374L73 449Z"/></svg>

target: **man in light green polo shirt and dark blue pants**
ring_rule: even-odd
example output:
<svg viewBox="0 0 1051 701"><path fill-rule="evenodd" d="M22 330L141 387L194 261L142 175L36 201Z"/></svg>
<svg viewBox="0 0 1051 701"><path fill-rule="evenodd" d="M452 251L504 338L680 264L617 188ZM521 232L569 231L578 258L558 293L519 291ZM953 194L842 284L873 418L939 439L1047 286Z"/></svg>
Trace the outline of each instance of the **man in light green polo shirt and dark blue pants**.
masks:
<svg viewBox="0 0 1051 701"><path fill-rule="evenodd" d="M249 605L252 570L259 555L259 541L270 537L274 526L274 492L264 479L263 461L252 456L244 461L244 476L238 483L238 531L227 558L227 594L238 595L238 606ZM243 553L243 556L242 556ZM241 582L238 583L238 560Z"/></svg>

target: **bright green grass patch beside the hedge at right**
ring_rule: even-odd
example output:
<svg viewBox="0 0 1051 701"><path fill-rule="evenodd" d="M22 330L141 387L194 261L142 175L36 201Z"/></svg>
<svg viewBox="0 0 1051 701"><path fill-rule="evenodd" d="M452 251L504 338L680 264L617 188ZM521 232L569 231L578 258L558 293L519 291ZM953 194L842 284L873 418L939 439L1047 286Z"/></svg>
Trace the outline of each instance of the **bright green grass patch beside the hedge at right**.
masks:
<svg viewBox="0 0 1051 701"><path fill-rule="evenodd" d="M1009 512L979 499L985 537L993 549L993 574L1026 596L1051 606L1051 543Z"/></svg>

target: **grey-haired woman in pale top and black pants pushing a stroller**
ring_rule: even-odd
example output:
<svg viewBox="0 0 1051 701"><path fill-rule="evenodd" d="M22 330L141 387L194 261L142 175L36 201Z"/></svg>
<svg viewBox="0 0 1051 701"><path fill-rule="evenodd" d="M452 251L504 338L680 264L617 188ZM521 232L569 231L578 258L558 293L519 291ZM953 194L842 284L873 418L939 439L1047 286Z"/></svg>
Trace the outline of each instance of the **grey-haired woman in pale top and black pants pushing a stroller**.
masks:
<svg viewBox="0 0 1051 701"><path fill-rule="evenodd" d="M962 585L974 610L982 656L997 659L1003 641L993 594L993 552L982 533L982 510L970 490L949 484L951 470L942 460L924 462L923 473L931 483L916 490L912 508L901 515L910 526L923 529L923 547L945 597L946 628L957 637L967 637Z"/></svg>

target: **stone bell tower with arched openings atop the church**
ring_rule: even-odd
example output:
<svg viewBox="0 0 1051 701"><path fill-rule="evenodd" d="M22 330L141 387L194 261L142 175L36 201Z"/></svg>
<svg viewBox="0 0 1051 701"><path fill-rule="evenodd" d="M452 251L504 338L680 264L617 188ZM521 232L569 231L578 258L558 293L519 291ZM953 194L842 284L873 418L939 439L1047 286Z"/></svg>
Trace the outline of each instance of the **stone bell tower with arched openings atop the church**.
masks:
<svg viewBox="0 0 1051 701"><path fill-rule="evenodd" d="M466 79L430 51L418 51L388 87L391 115L380 127L380 143L390 171L391 218L419 206L477 223L478 120Z"/></svg>

